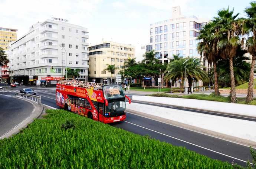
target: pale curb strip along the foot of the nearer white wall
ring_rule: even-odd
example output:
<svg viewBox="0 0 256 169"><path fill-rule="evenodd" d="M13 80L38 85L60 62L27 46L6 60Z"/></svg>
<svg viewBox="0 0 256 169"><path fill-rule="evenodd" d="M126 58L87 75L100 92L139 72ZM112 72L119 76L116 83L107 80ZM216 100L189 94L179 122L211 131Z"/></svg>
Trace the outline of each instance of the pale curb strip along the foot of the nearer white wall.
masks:
<svg viewBox="0 0 256 169"><path fill-rule="evenodd" d="M233 136L222 134L222 133L219 133L219 132L206 130L204 128L194 127L193 125L180 123L180 122L177 122L177 121L165 119L165 118L158 117L158 116L155 116L155 115L150 115L150 114L147 114L147 113L142 113L142 112L139 112L139 111L134 111L134 110L131 110L131 109L126 109L126 111L127 111L127 113L131 112L132 114L135 114L135 115L140 115L140 116L145 117L145 118L150 118L151 120L160 121L162 123L174 125L176 127L181 127L181 128L187 129L187 130L194 131L194 132L199 132L201 134L206 134L206 135L209 135L211 137L217 137L219 139L224 139L226 141L231 141L231 142L246 145L246 146L252 146L254 148L256 147L256 142L253 142L253 141L250 141L250 140L247 140L247 139L233 137Z"/></svg>

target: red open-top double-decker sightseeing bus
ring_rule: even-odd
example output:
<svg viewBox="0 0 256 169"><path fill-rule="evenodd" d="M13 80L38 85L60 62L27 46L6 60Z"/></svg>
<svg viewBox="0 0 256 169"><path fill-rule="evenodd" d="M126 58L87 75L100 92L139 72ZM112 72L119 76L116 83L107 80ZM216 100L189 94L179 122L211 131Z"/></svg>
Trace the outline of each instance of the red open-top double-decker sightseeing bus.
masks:
<svg viewBox="0 0 256 169"><path fill-rule="evenodd" d="M125 98L131 103L118 84L60 80L56 85L58 106L103 123L125 120Z"/></svg>

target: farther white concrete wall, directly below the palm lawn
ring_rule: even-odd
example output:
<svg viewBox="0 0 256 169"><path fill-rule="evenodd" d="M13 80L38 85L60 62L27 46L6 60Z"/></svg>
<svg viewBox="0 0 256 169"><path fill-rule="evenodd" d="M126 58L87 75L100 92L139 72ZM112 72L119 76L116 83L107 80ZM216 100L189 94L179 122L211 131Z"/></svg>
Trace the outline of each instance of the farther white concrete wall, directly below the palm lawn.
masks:
<svg viewBox="0 0 256 169"><path fill-rule="evenodd" d="M245 115L256 117L256 106L247 104L224 103L219 101L206 101L196 99L181 99L171 97L132 96L132 100L147 101L152 103L167 104L180 107L195 108L221 113Z"/></svg>

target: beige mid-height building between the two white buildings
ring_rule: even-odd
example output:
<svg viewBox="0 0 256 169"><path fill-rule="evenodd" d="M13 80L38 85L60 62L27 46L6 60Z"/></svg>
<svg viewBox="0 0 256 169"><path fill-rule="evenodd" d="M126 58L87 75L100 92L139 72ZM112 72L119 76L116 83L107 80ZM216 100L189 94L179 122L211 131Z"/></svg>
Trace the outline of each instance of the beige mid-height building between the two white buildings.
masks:
<svg viewBox="0 0 256 169"><path fill-rule="evenodd" d="M101 44L89 46L89 80L96 83L111 83L111 73L107 65L115 65L116 70L112 75L112 83L116 74L124 69L124 62L128 58L134 58L134 46L119 44L116 42L102 42Z"/></svg>

